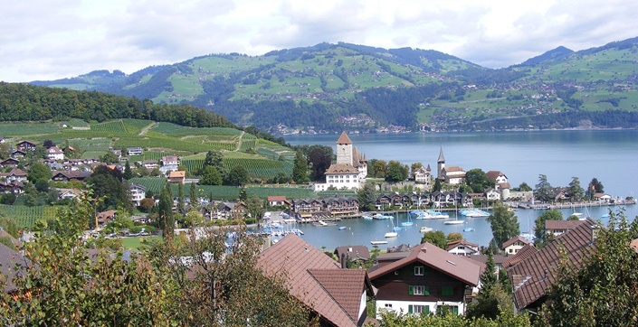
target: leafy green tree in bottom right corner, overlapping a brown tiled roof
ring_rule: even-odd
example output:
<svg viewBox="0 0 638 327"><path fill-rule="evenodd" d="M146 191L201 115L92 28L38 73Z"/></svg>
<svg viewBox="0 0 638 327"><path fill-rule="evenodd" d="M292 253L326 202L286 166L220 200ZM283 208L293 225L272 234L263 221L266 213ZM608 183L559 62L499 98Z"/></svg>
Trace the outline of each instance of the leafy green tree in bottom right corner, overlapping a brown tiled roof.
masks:
<svg viewBox="0 0 638 327"><path fill-rule="evenodd" d="M551 326L633 326L638 316L638 256L630 243L638 220L610 212L599 228L595 247L580 266L567 255L559 261L555 282L539 317Z"/></svg>

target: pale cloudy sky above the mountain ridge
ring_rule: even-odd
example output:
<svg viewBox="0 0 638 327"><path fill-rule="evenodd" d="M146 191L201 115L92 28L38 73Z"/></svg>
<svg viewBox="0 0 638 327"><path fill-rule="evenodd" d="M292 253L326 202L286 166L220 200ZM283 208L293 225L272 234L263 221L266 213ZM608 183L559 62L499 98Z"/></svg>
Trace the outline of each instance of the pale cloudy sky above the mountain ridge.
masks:
<svg viewBox="0 0 638 327"><path fill-rule="evenodd" d="M635 0L2 1L0 80L127 74L211 53L348 42L503 68L638 36Z"/></svg>

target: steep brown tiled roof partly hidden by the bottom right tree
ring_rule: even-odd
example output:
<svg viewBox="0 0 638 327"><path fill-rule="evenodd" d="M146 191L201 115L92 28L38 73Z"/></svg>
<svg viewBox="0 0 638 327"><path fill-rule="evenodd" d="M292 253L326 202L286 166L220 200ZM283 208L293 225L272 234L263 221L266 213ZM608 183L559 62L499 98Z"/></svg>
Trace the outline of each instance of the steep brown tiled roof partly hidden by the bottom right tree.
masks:
<svg viewBox="0 0 638 327"><path fill-rule="evenodd" d="M583 220L576 229L560 235L545 248L516 266L509 267L509 281L514 286L514 304L519 310L543 300L548 287L554 282L561 248L567 252L571 263L576 268L580 267L586 254L594 249L592 226L597 227L594 220Z"/></svg>

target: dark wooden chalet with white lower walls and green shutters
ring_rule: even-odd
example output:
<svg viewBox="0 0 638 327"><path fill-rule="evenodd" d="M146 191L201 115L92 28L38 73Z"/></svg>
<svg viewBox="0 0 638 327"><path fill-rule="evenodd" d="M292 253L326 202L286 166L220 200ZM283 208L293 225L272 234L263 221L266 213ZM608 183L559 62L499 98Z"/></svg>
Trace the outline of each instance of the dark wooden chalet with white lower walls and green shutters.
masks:
<svg viewBox="0 0 638 327"><path fill-rule="evenodd" d="M474 288L479 285L482 266L466 257L454 256L424 243L409 252L377 257L368 276L376 293L376 313L439 313L448 308L464 314ZM477 290L478 292L478 290Z"/></svg>

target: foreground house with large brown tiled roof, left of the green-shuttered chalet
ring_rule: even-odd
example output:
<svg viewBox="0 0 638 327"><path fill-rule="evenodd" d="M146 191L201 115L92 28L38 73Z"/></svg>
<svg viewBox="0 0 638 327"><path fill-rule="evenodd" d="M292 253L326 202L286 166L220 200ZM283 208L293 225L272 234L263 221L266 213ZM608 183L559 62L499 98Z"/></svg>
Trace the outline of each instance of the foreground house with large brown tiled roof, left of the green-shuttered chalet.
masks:
<svg viewBox="0 0 638 327"><path fill-rule="evenodd" d="M373 288L364 269L346 269L294 234L259 255L266 276L283 278L290 294L305 304L320 326L362 326Z"/></svg>

